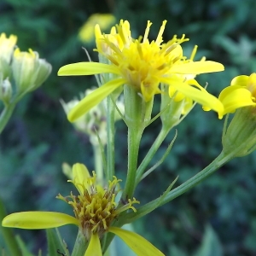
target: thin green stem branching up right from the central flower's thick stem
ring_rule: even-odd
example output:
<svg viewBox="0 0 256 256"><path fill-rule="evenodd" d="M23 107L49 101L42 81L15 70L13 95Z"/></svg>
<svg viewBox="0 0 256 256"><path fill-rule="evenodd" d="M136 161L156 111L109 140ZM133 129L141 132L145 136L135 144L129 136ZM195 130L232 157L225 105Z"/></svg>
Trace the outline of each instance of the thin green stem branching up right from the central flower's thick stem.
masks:
<svg viewBox="0 0 256 256"><path fill-rule="evenodd" d="M158 137L155 139L154 143L152 144L151 148L148 150L148 154L143 159L140 166L137 168L137 175L136 175L136 186L140 182L141 177L143 176L143 173L145 172L149 162L154 157L154 154L160 148L161 143L165 140L166 136L168 135L170 129L166 128L165 126L162 126L162 129L158 135Z"/></svg>

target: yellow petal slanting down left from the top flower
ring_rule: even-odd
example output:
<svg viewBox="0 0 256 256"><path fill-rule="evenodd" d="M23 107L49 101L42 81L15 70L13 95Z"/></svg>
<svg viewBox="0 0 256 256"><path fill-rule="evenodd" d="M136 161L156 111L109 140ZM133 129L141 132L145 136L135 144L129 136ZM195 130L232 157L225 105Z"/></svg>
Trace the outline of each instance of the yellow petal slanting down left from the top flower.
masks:
<svg viewBox="0 0 256 256"><path fill-rule="evenodd" d="M67 119L70 122L79 119L79 117L88 112L90 108L93 108L99 102L102 102L102 100L112 93L113 90L117 89L120 85L125 84L125 81L125 79L113 79L108 83L103 84L88 96L85 96L84 99L68 113Z"/></svg>

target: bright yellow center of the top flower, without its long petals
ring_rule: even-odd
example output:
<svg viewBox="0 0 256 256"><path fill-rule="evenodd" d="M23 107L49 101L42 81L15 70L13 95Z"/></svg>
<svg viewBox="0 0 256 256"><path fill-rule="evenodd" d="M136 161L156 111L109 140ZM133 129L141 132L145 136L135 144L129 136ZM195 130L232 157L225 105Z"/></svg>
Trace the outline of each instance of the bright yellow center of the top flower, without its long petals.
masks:
<svg viewBox="0 0 256 256"><path fill-rule="evenodd" d="M185 61L180 44L189 40L184 35L180 39L174 36L172 40L162 44L162 33L166 26L166 21L164 21L156 40L149 43L150 26L151 23L148 21L144 37L133 39L130 26L125 22L120 22L115 38L120 38L121 43L114 44L110 35L103 35L101 40L104 43L102 44L108 45L110 50L102 51L102 48L97 48L113 65L119 67L127 84L139 92L147 90L147 93L143 93L144 97L148 95L148 98L145 98L146 101L150 100L154 93L160 92L158 89L160 78L168 75L172 65L178 61Z"/></svg>

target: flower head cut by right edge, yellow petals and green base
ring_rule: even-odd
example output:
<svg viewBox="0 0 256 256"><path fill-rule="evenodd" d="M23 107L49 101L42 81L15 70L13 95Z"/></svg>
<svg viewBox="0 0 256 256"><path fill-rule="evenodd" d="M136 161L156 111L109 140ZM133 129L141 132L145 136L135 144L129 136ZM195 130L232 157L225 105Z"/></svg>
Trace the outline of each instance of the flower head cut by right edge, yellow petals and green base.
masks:
<svg viewBox="0 0 256 256"><path fill-rule="evenodd" d="M224 153L244 156L256 148L256 73L232 79L219 95L225 113L235 113L222 138Z"/></svg>

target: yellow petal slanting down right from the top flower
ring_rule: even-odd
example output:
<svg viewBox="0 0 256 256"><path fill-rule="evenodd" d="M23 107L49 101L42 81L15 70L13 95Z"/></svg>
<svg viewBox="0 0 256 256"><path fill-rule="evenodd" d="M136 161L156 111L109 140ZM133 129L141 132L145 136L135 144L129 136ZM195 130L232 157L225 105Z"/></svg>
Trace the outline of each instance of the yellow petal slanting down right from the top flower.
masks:
<svg viewBox="0 0 256 256"><path fill-rule="evenodd" d="M222 113L224 111L223 104L218 100L218 98L212 96L206 90L198 90L189 84L182 83L179 79L161 79L161 81L174 87L177 91L183 93L184 96L200 103L202 106L207 106L218 113Z"/></svg>

